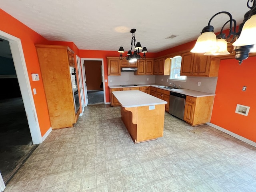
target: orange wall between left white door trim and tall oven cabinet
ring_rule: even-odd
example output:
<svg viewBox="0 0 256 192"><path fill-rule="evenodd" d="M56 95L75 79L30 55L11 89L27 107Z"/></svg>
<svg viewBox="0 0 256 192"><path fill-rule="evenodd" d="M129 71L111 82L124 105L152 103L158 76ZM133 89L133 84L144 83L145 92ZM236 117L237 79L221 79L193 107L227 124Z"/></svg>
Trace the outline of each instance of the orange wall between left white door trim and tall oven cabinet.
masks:
<svg viewBox="0 0 256 192"><path fill-rule="evenodd" d="M21 40L30 85L32 89L36 88L37 94L33 95L33 98L36 106L40 131L43 136L51 127L43 83L42 80L32 81L30 74L38 73L41 76L34 44L48 44L49 42L41 35L34 32L32 29L28 28L26 25L22 24L20 21L4 12L2 9L0 9L0 21L0 30L11 34L12 36L18 37Z"/></svg>

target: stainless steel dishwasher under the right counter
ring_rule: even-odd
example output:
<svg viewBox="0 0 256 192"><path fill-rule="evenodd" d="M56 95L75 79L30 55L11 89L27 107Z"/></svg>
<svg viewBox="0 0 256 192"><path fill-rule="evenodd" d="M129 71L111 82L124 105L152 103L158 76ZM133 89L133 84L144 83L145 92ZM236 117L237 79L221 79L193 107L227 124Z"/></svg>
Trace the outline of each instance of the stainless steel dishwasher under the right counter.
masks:
<svg viewBox="0 0 256 192"><path fill-rule="evenodd" d="M186 95L170 91L169 113L183 120Z"/></svg>

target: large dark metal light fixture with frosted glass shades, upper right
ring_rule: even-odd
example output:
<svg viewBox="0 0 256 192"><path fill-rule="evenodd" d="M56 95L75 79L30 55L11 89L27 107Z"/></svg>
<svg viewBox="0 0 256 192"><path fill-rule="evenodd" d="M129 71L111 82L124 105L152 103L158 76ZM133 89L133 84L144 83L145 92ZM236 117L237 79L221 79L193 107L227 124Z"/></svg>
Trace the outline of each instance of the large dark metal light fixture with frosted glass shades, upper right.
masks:
<svg viewBox="0 0 256 192"><path fill-rule="evenodd" d="M252 6L249 5L249 2L252 3ZM256 0L248 0L247 7L250 10L244 14L244 20L239 25L238 32L236 32L236 20L232 18L232 15L229 12L222 11L212 16L208 22L208 26L203 28L201 35L198 37L191 52L204 53L204 55L230 54L227 51L227 43L232 43L236 39L233 46L236 51L235 58L240 65L243 60L248 58L249 52L254 52L256 48ZM214 34L214 27L210 25L210 22L219 14L227 14L230 20L222 26L220 34L216 37ZM223 33L223 29L228 23L229 33L226 36L226 34ZM225 40L228 39L230 39L230 41L226 42Z"/></svg>

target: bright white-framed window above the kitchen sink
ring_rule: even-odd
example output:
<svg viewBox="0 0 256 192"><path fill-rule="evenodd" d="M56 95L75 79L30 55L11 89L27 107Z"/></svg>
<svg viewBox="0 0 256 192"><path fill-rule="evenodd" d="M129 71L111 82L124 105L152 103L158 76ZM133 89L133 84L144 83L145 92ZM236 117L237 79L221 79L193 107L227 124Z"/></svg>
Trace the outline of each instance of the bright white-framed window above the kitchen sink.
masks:
<svg viewBox="0 0 256 192"><path fill-rule="evenodd" d="M180 67L181 67L181 56L175 56L171 58L171 70L170 70L170 79L174 80L186 80L187 76L180 75Z"/></svg>

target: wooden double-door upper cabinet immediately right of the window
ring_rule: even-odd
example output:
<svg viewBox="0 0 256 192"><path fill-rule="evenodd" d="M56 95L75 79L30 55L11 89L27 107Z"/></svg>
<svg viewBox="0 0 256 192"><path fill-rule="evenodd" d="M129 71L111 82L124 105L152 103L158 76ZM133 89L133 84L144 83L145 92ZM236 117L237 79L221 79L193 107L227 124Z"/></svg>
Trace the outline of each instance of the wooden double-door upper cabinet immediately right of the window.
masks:
<svg viewBox="0 0 256 192"><path fill-rule="evenodd" d="M182 54L180 75L217 77L220 59L213 59L203 54L185 52Z"/></svg>

